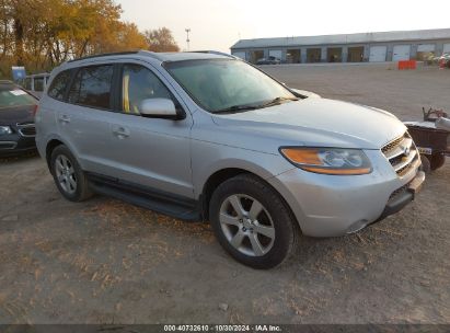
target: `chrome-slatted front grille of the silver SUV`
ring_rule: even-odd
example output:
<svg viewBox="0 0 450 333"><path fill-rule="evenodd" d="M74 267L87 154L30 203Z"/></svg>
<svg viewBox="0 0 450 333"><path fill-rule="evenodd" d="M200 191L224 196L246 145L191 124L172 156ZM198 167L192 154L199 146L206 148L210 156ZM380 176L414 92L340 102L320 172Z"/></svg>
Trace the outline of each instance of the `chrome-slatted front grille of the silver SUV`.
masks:
<svg viewBox="0 0 450 333"><path fill-rule="evenodd" d="M419 161L416 146L407 133L385 145L381 148L381 151L400 176L405 175L411 169L416 168Z"/></svg>

